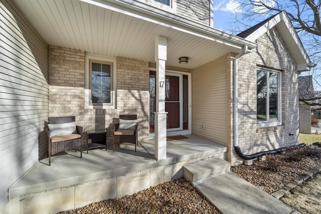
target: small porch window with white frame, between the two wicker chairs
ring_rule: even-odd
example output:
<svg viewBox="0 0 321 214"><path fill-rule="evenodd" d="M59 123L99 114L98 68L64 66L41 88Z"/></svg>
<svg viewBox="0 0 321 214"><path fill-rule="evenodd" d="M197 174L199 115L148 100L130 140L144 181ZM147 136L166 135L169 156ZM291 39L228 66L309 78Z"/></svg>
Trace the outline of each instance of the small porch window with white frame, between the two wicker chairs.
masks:
<svg viewBox="0 0 321 214"><path fill-rule="evenodd" d="M85 108L115 108L116 60L104 56L85 56Z"/></svg>

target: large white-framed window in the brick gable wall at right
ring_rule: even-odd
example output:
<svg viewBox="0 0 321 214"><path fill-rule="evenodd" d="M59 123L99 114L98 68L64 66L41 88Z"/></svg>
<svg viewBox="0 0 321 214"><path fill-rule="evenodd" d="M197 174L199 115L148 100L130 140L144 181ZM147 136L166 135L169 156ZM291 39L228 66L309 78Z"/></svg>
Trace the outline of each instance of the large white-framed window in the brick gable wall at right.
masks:
<svg viewBox="0 0 321 214"><path fill-rule="evenodd" d="M257 67L256 121L257 127L281 125L281 72Z"/></svg>

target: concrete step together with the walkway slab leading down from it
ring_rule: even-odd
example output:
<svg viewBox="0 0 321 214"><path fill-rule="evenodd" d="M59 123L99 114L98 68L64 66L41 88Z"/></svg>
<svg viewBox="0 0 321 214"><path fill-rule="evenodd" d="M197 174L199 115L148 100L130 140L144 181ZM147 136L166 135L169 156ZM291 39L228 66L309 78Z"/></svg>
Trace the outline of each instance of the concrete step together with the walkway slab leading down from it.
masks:
<svg viewBox="0 0 321 214"><path fill-rule="evenodd" d="M220 162L220 166L215 164L217 161ZM185 178L189 179L220 212L223 214L300 213L237 176L229 169L222 171L222 169L226 168L226 164L228 164L223 163L223 161L212 159L184 166ZM213 164L213 173L211 174L209 171ZM201 177L202 171L204 172L203 174L211 174L210 177Z"/></svg>

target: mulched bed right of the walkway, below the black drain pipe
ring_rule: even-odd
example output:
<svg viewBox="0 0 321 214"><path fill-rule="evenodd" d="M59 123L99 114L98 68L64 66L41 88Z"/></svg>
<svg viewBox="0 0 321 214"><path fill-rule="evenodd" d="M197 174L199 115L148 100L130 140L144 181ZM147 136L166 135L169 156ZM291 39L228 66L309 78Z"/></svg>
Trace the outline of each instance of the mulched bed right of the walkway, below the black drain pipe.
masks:
<svg viewBox="0 0 321 214"><path fill-rule="evenodd" d="M321 148L306 146L258 158L253 165L238 165L231 171L271 194L307 170L321 166Z"/></svg>

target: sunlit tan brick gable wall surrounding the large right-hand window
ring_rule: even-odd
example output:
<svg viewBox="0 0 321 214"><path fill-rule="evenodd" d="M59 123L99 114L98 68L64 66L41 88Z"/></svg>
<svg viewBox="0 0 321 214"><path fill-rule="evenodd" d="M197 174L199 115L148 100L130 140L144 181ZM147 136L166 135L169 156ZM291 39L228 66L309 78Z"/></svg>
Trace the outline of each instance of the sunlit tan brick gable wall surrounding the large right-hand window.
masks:
<svg viewBox="0 0 321 214"><path fill-rule="evenodd" d="M298 91L296 64L277 30L271 29L257 41L252 53L239 59L239 147L245 154L271 150L298 143ZM233 58L231 58L232 60ZM272 128L256 127L256 66L264 65L283 70L282 125ZM232 71L232 69L231 69ZM233 112L231 112L233 114ZM233 117L233 115L231 115ZM289 136L289 134L293 136ZM233 135L233 132L231 132ZM232 139L232 137L230 138ZM242 159L229 142L229 160L233 165Z"/></svg>

